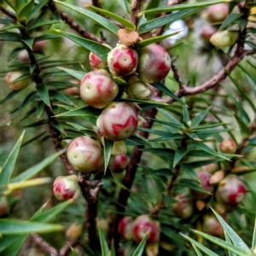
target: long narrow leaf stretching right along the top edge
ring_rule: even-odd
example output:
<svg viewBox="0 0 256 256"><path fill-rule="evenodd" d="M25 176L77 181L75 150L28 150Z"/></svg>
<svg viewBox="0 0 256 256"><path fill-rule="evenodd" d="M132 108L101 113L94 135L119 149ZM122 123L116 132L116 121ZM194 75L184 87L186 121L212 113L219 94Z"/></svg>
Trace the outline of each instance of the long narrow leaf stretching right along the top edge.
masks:
<svg viewBox="0 0 256 256"><path fill-rule="evenodd" d="M206 6L214 5L217 3L226 3L226 1L217 0L217 1L209 1L209 2L182 3L182 4L172 5L172 6L148 9L146 11L141 12L139 15L160 14L160 13L172 12L179 9L193 9L195 7L206 7Z"/></svg>

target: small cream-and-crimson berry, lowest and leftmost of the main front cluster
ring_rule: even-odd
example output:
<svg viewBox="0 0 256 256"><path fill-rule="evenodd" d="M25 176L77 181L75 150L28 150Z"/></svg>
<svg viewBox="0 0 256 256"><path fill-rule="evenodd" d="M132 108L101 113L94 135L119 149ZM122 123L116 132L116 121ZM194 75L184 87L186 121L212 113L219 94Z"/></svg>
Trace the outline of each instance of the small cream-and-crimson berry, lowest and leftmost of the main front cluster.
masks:
<svg viewBox="0 0 256 256"><path fill-rule="evenodd" d="M78 177L76 175L57 177L53 184L54 195L61 201L78 198L80 191Z"/></svg>

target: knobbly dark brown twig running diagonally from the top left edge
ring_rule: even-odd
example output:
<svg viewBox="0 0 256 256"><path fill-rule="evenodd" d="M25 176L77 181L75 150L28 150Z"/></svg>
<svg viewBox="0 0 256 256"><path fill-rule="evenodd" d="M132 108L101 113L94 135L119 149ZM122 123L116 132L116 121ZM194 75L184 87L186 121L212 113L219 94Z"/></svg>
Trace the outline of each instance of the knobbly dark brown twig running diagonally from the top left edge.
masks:
<svg viewBox="0 0 256 256"><path fill-rule="evenodd" d="M64 20L67 22L67 24L76 32L78 32L83 38L88 38L90 40L93 40L97 43L105 43L102 41L102 38L97 38L94 34L87 32L84 30L77 22L75 22L72 18L70 18L67 14L65 14L62 11L59 11L57 7L55 6L55 3L49 2L49 9L52 13L59 12L61 15L61 20Z"/></svg>

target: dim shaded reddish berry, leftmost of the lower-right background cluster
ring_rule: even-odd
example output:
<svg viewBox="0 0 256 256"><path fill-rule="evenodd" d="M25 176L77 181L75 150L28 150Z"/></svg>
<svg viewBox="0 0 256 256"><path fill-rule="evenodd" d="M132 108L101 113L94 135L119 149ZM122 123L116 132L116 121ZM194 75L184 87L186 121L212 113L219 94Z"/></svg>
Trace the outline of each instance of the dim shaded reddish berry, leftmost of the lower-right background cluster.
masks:
<svg viewBox="0 0 256 256"><path fill-rule="evenodd" d="M177 202L173 205L173 212L179 218L189 218L194 210L192 198L186 197L186 194L182 193L177 195L175 199Z"/></svg>

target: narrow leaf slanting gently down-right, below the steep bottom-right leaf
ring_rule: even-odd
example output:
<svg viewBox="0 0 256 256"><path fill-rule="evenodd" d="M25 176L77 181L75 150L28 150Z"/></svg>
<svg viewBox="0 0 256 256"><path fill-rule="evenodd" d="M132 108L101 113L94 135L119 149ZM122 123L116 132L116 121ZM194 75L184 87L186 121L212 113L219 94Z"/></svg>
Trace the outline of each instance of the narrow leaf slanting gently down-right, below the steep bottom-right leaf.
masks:
<svg viewBox="0 0 256 256"><path fill-rule="evenodd" d="M234 245L232 245L231 243L228 243L222 239L219 239L216 236L211 236L208 235L206 233L203 233L201 231L198 230L193 230L195 234L202 236L204 238L206 238L209 241L212 241L214 244L218 245L219 247L223 247L224 249L227 249L228 251L232 252L232 253L236 253L239 256L245 256L248 255L246 251L242 250L240 247L236 247ZM249 254L251 255L251 254Z"/></svg>

